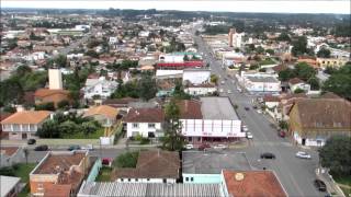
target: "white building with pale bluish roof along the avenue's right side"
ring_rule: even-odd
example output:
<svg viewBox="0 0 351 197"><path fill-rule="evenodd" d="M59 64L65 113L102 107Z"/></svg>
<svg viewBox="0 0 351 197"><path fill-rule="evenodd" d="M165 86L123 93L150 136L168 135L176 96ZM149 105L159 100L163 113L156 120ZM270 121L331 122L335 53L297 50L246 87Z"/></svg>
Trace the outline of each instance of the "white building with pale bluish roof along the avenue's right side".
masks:
<svg viewBox="0 0 351 197"><path fill-rule="evenodd" d="M250 93L276 94L281 91L281 82L276 74L241 73L241 76L237 76L237 79Z"/></svg>

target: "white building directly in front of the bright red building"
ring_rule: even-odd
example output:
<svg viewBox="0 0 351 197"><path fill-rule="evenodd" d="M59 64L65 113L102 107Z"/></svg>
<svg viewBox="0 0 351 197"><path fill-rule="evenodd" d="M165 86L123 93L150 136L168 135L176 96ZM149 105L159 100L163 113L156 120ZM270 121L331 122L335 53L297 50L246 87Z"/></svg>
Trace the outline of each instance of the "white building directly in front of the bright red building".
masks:
<svg viewBox="0 0 351 197"><path fill-rule="evenodd" d="M208 83L211 79L210 69L184 69L183 82L188 81L192 84Z"/></svg>

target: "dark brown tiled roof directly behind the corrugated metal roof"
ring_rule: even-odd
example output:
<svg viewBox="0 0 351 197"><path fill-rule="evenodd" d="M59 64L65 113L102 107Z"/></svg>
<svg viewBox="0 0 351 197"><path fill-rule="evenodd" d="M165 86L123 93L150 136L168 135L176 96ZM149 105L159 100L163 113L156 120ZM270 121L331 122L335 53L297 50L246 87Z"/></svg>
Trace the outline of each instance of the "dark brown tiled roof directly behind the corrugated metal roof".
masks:
<svg viewBox="0 0 351 197"><path fill-rule="evenodd" d="M178 178L180 159L178 152L141 151L136 169L116 169L114 178Z"/></svg>

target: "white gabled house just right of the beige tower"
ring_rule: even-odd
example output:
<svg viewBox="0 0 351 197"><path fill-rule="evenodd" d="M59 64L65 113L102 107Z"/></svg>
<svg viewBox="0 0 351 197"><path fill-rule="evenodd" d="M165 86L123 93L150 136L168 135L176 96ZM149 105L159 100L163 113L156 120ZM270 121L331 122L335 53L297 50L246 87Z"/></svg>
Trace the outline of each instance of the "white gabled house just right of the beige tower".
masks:
<svg viewBox="0 0 351 197"><path fill-rule="evenodd" d="M109 97L117 89L117 82L109 81L104 77L99 79L87 79L83 88L84 99L91 100L94 95L102 99Z"/></svg>

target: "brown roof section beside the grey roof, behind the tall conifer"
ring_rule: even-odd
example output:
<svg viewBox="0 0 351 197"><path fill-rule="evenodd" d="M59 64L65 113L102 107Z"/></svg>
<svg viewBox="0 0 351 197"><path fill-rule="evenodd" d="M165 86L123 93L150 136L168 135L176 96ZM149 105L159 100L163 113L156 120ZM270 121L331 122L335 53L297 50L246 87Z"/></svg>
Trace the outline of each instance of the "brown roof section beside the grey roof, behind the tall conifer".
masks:
<svg viewBox="0 0 351 197"><path fill-rule="evenodd" d="M181 100L177 103L180 108L180 117L183 119L202 119L201 102L194 100Z"/></svg>

